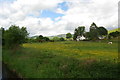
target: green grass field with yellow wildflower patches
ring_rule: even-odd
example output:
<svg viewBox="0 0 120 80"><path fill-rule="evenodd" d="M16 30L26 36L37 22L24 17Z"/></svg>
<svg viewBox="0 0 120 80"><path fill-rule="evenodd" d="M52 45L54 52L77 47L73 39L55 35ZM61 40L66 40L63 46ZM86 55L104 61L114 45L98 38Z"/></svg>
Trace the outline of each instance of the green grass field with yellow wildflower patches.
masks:
<svg viewBox="0 0 120 80"><path fill-rule="evenodd" d="M116 78L117 59L118 44L107 42L26 43L3 51L3 61L24 78Z"/></svg>

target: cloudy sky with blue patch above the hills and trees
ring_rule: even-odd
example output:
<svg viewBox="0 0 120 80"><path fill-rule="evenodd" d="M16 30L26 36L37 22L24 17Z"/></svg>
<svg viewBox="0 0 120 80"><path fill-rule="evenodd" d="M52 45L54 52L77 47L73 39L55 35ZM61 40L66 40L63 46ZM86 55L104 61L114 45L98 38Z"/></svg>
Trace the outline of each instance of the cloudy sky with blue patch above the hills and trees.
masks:
<svg viewBox="0 0 120 80"><path fill-rule="evenodd" d="M74 33L92 22L98 27L118 27L119 0L0 0L0 27L26 27L29 36Z"/></svg>

